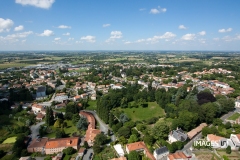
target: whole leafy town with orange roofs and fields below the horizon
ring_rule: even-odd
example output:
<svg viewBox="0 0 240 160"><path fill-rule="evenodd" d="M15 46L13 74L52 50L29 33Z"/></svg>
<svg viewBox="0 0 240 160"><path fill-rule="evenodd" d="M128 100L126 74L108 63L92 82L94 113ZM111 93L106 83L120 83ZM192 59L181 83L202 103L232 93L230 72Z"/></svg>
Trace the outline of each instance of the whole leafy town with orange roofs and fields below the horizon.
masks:
<svg viewBox="0 0 240 160"><path fill-rule="evenodd" d="M235 159L239 54L1 53L0 157Z"/></svg>

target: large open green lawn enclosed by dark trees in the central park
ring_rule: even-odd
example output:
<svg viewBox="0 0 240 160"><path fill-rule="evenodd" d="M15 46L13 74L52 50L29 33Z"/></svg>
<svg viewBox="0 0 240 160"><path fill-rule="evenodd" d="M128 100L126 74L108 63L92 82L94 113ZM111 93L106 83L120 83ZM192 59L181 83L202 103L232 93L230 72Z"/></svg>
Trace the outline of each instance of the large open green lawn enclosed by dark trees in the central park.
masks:
<svg viewBox="0 0 240 160"><path fill-rule="evenodd" d="M126 113L133 121L141 121L165 115L164 110L156 102L148 102L148 107L146 108L121 108L120 110Z"/></svg>

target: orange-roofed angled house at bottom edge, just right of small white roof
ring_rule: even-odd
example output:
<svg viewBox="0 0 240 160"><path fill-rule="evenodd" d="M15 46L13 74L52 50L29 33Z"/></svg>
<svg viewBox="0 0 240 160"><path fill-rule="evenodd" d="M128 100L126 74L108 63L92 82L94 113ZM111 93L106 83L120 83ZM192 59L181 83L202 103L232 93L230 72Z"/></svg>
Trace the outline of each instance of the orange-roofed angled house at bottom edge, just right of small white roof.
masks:
<svg viewBox="0 0 240 160"><path fill-rule="evenodd" d="M149 159L156 160L155 157L149 152L144 142L135 142L126 145L126 152L129 154L131 151L143 152Z"/></svg>

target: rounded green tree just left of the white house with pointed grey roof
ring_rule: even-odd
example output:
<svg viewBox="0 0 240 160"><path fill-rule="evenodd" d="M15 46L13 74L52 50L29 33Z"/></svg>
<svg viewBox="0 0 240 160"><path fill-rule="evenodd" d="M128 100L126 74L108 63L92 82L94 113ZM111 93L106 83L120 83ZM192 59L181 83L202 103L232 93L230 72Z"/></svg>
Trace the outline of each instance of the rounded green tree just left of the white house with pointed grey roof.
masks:
<svg viewBox="0 0 240 160"><path fill-rule="evenodd" d="M152 135L156 139L166 139L169 133L169 127L164 122L157 122L152 128Z"/></svg>

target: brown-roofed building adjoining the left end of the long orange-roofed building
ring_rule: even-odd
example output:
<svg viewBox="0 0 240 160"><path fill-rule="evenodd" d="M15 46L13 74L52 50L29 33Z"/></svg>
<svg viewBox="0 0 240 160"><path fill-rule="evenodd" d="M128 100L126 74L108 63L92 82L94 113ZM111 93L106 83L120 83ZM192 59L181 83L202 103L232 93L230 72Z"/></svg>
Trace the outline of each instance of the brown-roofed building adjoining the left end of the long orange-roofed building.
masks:
<svg viewBox="0 0 240 160"><path fill-rule="evenodd" d="M41 152L44 153L45 145L48 141L48 138L35 138L32 140L30 145L27 147L27 151L30 153Z"/></svg>

